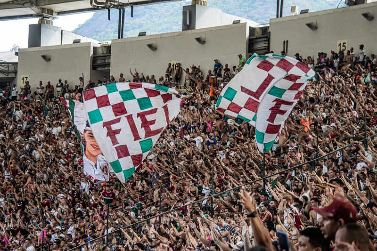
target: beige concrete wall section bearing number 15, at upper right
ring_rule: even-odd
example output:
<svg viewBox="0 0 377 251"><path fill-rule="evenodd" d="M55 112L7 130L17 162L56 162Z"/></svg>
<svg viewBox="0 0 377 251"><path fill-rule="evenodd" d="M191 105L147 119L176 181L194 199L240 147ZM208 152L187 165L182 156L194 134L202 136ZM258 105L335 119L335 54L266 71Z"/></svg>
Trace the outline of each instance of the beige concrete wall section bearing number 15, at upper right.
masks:
<svg viewBox="0 0 377 251"><path fill-rule="evenodd" d="M371 12L374 20L366 20L361 15L365 12ZM305 23L310 22L316 23L318 29L309 29ZM288 55L298 52L317 58L319 51L337 51L337 41L347 40L346 49L354 47L358 55L359 44L364 44L370 55L377 52L377 2L274 18L270 20L270 32L270 48L276 53L283 50L283 41L289 40Z"/></svg>

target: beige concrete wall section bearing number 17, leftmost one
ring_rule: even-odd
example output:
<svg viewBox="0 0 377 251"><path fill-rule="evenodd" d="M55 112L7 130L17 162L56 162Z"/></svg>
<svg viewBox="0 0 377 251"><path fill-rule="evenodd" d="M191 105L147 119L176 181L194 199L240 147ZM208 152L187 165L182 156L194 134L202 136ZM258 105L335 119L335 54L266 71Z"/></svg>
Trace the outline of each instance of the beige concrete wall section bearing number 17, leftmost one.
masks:
<svg viewBox="0 0 377 251"><path fill-rule="evenodd" d="M67 80L69 87L74 88L79 83L78 78L81 77L81 73L84 73L85 82L89 80L91 52L91 43L20 49L17 74L29 76L32 91L39 81L43 81L44 86L47 81L51 81L55 86L59 78L63 81ZM51 61L44 61L41 55L49 55Z"/></svg>

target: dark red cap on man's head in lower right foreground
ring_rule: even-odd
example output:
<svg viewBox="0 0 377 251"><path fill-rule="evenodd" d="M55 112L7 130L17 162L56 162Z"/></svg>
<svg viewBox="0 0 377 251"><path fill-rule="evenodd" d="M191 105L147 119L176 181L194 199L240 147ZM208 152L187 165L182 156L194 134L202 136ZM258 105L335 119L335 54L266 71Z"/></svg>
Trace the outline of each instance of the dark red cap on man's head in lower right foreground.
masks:
<svg viewBox="0 0 377 251"><path fill-rule="evenodd" d="M345 223L356 222L359 219L356 207L349 200L339 198L334 198L326 207L315 207L313 210L324 217L343 219Z"/></svg>

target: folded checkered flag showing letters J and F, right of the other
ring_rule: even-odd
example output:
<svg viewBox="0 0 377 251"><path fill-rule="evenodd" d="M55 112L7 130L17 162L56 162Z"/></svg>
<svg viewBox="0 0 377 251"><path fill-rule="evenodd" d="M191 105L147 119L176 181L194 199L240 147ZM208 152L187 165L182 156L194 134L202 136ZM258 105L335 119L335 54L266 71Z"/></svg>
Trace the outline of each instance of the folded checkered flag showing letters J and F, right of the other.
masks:
<svg viewBox="0 0 377 251"><path fill-rule="evenodd" d="M256 127L258 149L268 152L314 74L294 58L254 54L222 90L216 109Z"/></svg>

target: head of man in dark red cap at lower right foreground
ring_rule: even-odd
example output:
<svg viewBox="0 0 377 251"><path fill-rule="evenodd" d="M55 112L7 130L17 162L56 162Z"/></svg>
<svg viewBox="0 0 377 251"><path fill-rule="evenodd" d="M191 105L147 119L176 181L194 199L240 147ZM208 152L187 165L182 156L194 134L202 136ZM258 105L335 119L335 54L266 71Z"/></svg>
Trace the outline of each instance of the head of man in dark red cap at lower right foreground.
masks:
<svg viewBox="0 0 377 251"><path fill-rule="evenodd" d="M334 197L326 207L313 208L322 216L320 228L326 239L334 240L336 231L346 223L357 222L357 210L349 200Z"/></svg>

